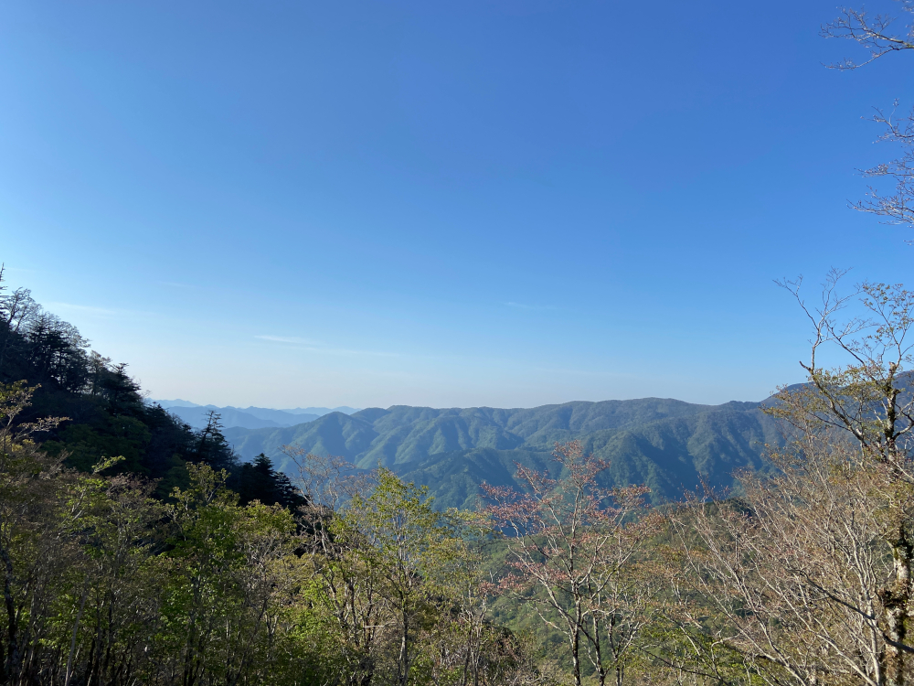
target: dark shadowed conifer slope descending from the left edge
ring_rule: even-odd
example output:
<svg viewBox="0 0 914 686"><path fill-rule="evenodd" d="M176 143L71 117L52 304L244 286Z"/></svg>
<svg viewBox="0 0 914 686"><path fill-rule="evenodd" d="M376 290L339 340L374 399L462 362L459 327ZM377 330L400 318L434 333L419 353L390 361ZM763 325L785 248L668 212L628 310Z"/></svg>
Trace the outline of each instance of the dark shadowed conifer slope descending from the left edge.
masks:
<svg viewBox="0 0 914 686"><path fill-rule="evenodd" d="M153 480L158 498L188 484L187 465L204 464L228 473L228 487L241 502L297 502L288 479L266 458L241 464L222 433L218 415L197 427L161 405L147 402L126 364L114 364L89 346L68 322L45 311L26 288L10 292L0 265L0 384L31 388L16 423L58 417L35 436L61 466L90 471L119 457L107 469ZM15 394L15 393L14 393ZM204 408L189 408L203 410ZM0 413L9 421L9 415Z"/></svg>

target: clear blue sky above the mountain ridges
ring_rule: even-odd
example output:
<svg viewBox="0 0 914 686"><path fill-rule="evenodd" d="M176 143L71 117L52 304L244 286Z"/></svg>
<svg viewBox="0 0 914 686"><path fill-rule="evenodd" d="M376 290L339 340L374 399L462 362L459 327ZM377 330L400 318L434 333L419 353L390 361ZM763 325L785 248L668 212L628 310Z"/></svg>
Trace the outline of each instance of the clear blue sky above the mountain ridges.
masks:
<svg viewBox="0 0 914 686"><path fill-rule="evenodd" d="M0 260L156 398L759 400L807 337L772 279L914 257L846 209L914 56L824 69L835 15L6 2Z"/></svg>

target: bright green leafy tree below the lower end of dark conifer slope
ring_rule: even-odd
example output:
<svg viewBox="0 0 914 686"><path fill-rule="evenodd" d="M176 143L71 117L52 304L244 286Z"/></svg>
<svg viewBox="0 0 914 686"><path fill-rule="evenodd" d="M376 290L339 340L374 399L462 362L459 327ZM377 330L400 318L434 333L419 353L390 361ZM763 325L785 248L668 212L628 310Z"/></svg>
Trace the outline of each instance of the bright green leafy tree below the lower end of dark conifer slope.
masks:
<svg viewBox="0 0 914 686"><path fill-rule="evenodd" d="M173 530L163 624L171 630L160 649L185 684L263 679L276 659L276 595L292 592L284 583L292 514L279 505L239 507L226 472L188 470L190 488L175 488L166 506Z"/></svg>

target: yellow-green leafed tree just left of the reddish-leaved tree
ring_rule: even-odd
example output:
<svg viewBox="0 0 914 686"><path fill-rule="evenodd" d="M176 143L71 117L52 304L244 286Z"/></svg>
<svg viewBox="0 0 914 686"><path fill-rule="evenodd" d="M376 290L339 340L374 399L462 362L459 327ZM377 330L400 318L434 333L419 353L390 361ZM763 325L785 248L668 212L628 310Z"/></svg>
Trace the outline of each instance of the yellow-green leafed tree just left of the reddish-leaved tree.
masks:
<svg viewBox="0 0 914 686"><path fill-rule="evenodd" d="M538 679L515 637L485 621L478 516L438 511L426 488L387 469L285 450L300 467L310 597L340 683Z"/></svg>

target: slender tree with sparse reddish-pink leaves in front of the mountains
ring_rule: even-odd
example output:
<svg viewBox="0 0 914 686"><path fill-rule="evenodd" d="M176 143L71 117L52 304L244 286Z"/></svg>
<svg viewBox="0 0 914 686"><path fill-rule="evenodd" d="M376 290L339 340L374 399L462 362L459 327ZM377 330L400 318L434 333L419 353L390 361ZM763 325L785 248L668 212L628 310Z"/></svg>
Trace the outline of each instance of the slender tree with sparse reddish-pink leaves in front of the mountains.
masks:
<svg viewBox="0 0 914 686"><path fill-rule="evenodd" d="M659 522L642 513L647 488L600 487L609 465L578 441L556 444L553 455L561 479L517 466L526 492L483 486L495 525L510 535L513 573L501 588L518 599L532 592L539 616L568 642L576 684L585 656L600 686L610 678L621 684L652 594L637 553Z"/></svg>

